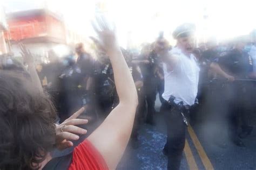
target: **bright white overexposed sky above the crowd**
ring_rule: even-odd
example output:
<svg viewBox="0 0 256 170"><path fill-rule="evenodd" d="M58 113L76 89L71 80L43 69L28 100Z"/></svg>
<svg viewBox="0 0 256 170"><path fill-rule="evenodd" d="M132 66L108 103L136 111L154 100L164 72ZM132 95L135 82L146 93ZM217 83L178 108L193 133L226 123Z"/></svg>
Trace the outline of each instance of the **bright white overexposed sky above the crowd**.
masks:
<svg viewBox="0 0 256 170"><path fill-rule="evenodd" d="M89 36L96 4L116 23L121 44L153 41L184 22L197 25L198 37L228 39L256 29L256 0L1 0L6 12L47 7L61 13L69 29ZM99 6L99 5L98 5ZM204 19L207 16L207 19Z"/></svg>

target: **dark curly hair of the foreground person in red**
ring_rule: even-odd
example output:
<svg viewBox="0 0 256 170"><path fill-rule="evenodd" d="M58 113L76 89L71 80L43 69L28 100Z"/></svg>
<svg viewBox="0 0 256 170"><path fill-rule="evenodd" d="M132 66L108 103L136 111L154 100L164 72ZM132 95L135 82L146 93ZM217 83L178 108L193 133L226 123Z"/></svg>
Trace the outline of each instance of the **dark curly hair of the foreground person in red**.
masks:
<svg viewBox="0 0 256 170"><path fill-rule="evenodd" d="M27 77L0 72L0 169L38 169L55 144L56 111Z"/></svg>

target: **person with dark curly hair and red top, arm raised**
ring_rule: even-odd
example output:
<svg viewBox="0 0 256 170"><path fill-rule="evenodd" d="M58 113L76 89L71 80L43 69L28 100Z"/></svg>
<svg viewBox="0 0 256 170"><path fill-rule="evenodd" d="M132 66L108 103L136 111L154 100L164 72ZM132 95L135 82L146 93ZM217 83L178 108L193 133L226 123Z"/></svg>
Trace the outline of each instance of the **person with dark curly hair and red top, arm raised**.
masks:
<svg viewBox="0 0 256 170"><path fill-rule="evenodd" d="M115 169L130 139L138 96L132 75L120 51L116 34L103 17L93 24L99 42L111 60L119 104L105 121L72 153L52 158L57 147L73 146L86 130L77 125L80 109L55 125L56 112L47 95L22 73L0 72L0 169ZM125 80L125 81L124 81Z"/></svg>

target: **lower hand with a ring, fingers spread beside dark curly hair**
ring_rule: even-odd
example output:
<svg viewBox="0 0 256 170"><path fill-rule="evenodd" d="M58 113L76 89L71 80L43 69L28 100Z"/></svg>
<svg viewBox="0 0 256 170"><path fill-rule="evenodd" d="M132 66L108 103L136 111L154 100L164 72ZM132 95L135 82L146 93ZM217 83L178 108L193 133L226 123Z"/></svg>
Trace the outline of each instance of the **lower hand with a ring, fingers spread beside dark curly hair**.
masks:
<svg viewBox="0 0 256 170"><path fill-rule="evenodd" d="M77 127L77 125L87 124L87 119L78 119L77 117L84 112L85 108L79 109L75 114L66 119L62 124L56 125L56 147L59 150L72 147L71 140L78 140L78 134L86 134L85 129Z"/></svg>

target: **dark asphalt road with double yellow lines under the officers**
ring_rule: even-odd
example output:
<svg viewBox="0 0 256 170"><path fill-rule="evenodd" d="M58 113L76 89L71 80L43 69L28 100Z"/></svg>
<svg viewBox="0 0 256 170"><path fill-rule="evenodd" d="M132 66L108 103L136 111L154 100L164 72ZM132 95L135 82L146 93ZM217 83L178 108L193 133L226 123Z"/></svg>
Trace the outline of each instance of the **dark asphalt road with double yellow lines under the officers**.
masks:
<svg viewBox="0 0 256 170"><path fill-rule="evenodd" d="M160 106L156 103L156 109ZM139 148L129 145L118 169L166 169L162 153L166 141L164 117L155 115L156 125L143 124L139 130ZM256 169L256 127L243 139L246 147L235 146L227 137L225 123L203 121L188 127L180 169Z"/></svg>

